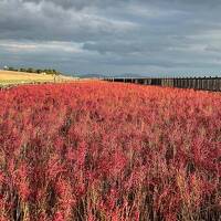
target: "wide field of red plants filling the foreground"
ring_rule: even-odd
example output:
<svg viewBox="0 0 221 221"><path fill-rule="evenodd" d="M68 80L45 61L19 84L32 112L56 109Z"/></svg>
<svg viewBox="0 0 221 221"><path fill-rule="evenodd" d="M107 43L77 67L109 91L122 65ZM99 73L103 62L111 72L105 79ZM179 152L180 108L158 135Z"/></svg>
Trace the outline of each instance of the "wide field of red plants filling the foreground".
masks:
<svg viewBox="0 0 221 221"><path fill-rule="evenodd" d="M117 83L0 92L0 220L221 219L221 94Z"/></svg>

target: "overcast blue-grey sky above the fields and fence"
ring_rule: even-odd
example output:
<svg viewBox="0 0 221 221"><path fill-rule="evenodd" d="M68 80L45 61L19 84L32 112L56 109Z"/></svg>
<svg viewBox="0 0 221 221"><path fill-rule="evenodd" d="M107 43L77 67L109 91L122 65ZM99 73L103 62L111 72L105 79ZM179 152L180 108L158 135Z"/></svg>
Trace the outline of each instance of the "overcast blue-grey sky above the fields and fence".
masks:
<svg viewBox="0 0 221 221"><path fill-rule="evenodd" d="M220 0L0 0L0 65L221 73Z"/></svg>

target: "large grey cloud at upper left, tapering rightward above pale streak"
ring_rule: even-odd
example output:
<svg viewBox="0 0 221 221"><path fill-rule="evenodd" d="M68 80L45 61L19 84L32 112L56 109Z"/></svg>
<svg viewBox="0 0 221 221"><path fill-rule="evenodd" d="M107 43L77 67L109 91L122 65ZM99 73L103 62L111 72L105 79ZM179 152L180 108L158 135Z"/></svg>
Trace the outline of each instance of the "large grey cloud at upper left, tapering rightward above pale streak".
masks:
<svg viewBox="0 0 221 221"><path fill-rule="evenodd" d="M17 13L9 13L13 10ZM66 12L44 1L42 6L2 1L0 14L0 39L84 42L123 36L133 28L131 22L112 21L93 13Z"/></svg>

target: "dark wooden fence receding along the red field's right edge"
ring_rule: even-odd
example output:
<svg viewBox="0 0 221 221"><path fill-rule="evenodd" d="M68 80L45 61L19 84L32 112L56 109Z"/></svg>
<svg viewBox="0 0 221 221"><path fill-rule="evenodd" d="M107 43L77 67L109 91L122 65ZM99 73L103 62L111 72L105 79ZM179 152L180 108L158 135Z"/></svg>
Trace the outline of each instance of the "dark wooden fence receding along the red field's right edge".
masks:
<svg viewBox="0 0 221 221"><path fill-rule="evenodd" d="M171 78L152 78L152 77L106 77L108 82L124 82L144 85L158 85L167 87L193 88L221 92L221 77L171 77Z"/></svg>

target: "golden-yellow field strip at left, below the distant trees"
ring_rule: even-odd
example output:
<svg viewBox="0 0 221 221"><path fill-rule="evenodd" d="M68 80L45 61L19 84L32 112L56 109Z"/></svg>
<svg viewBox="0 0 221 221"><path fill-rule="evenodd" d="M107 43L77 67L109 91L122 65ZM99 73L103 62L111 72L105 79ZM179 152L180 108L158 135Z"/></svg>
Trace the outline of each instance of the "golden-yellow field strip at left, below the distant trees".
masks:
<svg viewBox="0 0 221 221"><path fill-rule="evenodd" d="M56 81L73 81L74 78L67 76L56 76ZM0 70L0 86L11 85L11 84L25 84L25 83L43 83L43 82L54 82L53 75L34 74L34 73L23 73L23 72L12 72Z"/></svg>

